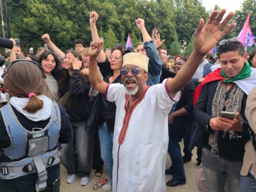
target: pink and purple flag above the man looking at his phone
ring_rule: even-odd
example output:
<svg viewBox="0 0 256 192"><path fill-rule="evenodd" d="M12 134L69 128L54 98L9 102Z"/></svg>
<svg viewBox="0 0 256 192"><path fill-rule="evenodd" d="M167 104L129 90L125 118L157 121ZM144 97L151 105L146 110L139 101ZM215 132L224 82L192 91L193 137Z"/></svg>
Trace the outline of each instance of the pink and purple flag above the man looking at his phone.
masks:
<svg viewBox="0 0 256 192"><path fill-rule="evenodd" d="M248 17L244 23L243 29L238 35L238 41L241 42L244 45L244 48L250 47L253 44L255 44L255 36L252 34L252 30L249 26L249 20L250 20L250 13L248 14Z"/></svg>

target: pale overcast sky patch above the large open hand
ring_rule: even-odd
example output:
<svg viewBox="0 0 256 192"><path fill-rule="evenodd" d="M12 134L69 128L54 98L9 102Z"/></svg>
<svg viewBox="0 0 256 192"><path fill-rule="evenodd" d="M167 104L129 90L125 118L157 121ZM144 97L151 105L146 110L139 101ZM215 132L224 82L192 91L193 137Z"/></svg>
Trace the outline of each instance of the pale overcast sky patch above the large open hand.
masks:
<svg viewBox="0 0 256 192"><path fill-rule="evenodd" d="M213 10L215 4L218 4L220 8L225 8L227 12L235 12L240 8L241 3L244 0L202 0L203 5L205 6L206 10Z"/></svg>

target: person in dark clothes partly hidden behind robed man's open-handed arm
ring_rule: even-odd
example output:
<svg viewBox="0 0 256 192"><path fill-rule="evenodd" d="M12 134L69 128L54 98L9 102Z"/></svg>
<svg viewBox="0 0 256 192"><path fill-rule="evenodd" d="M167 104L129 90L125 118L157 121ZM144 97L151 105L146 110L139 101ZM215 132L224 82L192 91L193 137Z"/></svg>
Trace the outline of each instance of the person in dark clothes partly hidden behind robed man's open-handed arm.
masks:
<svg viewBox="0 0 256 192"><path fill-rule="evenodd" d="M174 73L177 74L180 68L186 63L185 58L180 58L174 63ZM186 183L184 165L180 152L179 140L184 137L189 115L193 112L193 96L195 84L189 81L181 90L181 96L178 102L173 104L173 108L168 115L169 122L169 145L168 152L172 159L172 166L166 170L167 174L172 174L172 180L169 180L167 186L177 186Z"/></svg>

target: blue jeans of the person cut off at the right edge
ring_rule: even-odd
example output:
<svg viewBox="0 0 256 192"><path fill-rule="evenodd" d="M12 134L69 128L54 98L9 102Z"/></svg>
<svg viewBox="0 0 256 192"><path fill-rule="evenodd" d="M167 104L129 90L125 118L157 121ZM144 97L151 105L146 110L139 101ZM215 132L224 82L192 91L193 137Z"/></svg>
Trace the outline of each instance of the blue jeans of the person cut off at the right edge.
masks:
<svg viewBox="0 0 256 192"><path fill-rule="evenodd" d="M241 192L255 192L256 191L256 179L251 173L247 176L240 177Z"/></svg>

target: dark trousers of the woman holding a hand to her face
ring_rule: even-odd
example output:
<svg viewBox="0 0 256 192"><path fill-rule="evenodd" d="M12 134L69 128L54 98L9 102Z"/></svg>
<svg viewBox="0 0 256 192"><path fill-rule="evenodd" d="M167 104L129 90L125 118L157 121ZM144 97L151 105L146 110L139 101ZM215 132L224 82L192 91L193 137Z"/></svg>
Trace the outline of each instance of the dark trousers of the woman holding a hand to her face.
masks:
<svg viewBox="0 0 256 192"><path fill-rule="evenodd" d="M90 176L92 170L93 133L85 131L86 122L70 122L73 138L70 143L61 144L61 163L68 175L79 173Z"/></svg>

